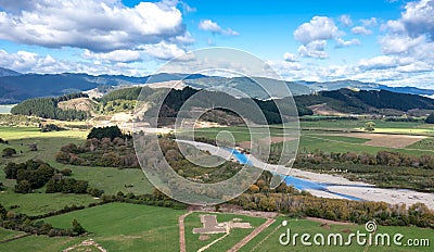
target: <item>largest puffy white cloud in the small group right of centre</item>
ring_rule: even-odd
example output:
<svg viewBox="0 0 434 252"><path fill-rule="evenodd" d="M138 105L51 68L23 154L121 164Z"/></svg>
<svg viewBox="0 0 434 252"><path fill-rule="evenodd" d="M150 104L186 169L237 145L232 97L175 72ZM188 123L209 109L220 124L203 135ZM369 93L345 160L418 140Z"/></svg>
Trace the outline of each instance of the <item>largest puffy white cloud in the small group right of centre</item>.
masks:
<svg viewBox="0 0 434 252"><path fill-rule="evenodd" d="M341 33L333 20L327 16L314 16L309 23L304 23L294 32L295 40L308 45L316 40L329 40Z"/></svg>

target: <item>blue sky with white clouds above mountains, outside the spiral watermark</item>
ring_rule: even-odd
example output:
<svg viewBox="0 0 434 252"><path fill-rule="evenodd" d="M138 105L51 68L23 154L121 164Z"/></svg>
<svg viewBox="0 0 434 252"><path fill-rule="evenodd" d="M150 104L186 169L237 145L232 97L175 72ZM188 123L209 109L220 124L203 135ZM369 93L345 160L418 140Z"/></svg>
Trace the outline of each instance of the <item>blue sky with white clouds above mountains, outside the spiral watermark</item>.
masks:
<svg viewBox="0 0 434 252"><path fill-rule="evenodd" d="M434 88L434 0L0 0L0 66L152 74L189 50L229 47L289 80Z"/></svg>

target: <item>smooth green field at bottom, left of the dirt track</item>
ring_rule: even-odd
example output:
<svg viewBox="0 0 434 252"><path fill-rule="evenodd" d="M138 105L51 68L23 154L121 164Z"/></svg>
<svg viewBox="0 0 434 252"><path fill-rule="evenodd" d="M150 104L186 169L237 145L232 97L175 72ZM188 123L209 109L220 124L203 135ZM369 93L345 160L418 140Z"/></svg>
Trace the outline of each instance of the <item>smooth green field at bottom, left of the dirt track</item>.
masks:
<svg viewBox="0 0 434 252"><path fill-rule="evenodd" d="M73 219L77 219L91 232L90 237L108 251L179 251L178 217L183 213L186 211L111 203L49 217L46 222L54 227L71 227Z"/></svg>

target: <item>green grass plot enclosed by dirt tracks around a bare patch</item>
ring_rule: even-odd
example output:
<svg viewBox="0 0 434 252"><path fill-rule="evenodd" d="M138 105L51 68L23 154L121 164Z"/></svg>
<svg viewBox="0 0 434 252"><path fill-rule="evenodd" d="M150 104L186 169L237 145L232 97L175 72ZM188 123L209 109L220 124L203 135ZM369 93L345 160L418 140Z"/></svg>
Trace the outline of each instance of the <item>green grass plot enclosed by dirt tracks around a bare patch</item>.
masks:
<svg viewBox="0 0 434 252"><path fill-rule="evenodd" d="M193 234L193 228L202 227L202 223L199 217L199 215L201 215L201 214L209 214L209 213L192 213L189 216L187 216L184 219L187 251L197 251L202 247L213 242L214 240L216 240L219 237L222 237L225 235L225 234L206 235L209 237L209 239L207 239L205 241L199 240L200 234ZM229 220L232 220L233 218L241 218L242 219L241 222L251 223L251 225L254 228L260 226L265 222L265 218L251 217L251 216L237 215L237 214L216 214L216 215L217 215L218 223L229 222ZM243 239L248 234L251 234L254 230L254 228L231 229L229 236L225 237L222 240L213 244L206 251L227 251L230 248L232 248L234 244L237 244L241 239Z"/></svg>

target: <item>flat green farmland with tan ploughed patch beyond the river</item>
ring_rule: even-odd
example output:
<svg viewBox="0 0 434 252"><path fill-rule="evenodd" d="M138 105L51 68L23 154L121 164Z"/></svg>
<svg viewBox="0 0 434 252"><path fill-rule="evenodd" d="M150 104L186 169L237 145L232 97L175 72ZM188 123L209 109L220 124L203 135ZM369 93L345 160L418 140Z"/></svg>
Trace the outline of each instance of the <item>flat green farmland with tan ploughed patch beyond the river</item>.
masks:
<svg viewBox="0 0 434 252"><path fill-rule="evenodd" d="M346 121L345 121L346 122ZM365 125L366 122L358 122L357 124L353 121L348 121L350 124L346 125L346 129L352 129L350 127L357 125ZM381 121L380 121L381 122ZM403 152L406 154L422 155L434 153L434 143L431 137L418 137L412 136L410 133L411 127L425 126L418 123L400 123L400 122L381 122L380 125L385 125L391 127L394 124L394 129L400 130L401 134L396 135L391 133L379 134L380 129L374 130L374 133L336 133L336 131L326 131L328 129L333 129L333 127L340 127L344 124L341 122L302 122L309 123L309 125L316 125L316 130L302 130L299 140L299 150L315 151L323 150L328 152L367 152L376 153L381 150L387 150L392 152ZM352 125L353 124L353 125ZM319 127L320 126L320 127ZM282 130L279 129L278 125L272 125L270 127L270 135L272 137L281 137ZM321 128L323 128L321 130ZM303 128L302 128L303 129ZM345 130L345 128L335 128L336 130ZM431 130L431 129L420 129L418 130ZM232 133L235 141L238 143L250 141L248 129L246 127L220 127L220 128L201 128L195 129L195 136L212 138L214 139L220 130L227 130ZM433 131L434 133L434 131ZM376 135L378 134L378 135ZM384 144L386 147L382 147ZM393 146L393 147L392 147Z"/></svg>

